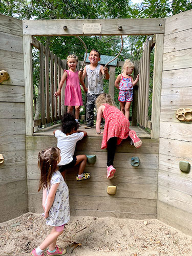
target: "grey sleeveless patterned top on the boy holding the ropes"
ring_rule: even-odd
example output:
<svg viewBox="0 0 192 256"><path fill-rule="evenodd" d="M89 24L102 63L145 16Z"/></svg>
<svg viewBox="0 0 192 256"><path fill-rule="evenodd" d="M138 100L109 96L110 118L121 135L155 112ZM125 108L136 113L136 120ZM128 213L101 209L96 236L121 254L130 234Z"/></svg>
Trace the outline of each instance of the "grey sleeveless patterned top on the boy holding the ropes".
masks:
<svg viewBox="0 0 192 256"><path fill-rule="evenodd" d="M103 93L103 79L100 72L101 65L97 65L94 70L90 69L90 65L86 66L86 73L88 77L88 93L101 94Z"/></svg>

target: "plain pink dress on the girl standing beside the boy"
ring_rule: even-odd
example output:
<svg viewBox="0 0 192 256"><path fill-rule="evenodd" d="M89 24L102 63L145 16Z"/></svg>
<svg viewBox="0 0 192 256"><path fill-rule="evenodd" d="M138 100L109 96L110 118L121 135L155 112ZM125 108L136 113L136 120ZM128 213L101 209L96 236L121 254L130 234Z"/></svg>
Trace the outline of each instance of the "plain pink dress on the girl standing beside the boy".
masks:
<svg viewBox="0 0 192 256"><path fill-rule="evenodd" d="M78 71L67 72L66 89L65 89L65 105L66 106L82 106L82 95L79 83Z"/></svg>

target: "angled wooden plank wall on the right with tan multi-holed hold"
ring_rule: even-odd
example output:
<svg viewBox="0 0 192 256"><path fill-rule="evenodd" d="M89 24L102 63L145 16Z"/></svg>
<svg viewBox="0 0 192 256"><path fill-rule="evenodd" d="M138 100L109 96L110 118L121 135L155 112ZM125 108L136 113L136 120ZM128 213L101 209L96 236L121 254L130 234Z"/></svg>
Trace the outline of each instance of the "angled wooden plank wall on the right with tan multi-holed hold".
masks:
<svg viewBox="0 0 192 256"><path fill-rule="evenodd" d="M166 18L160 115L157 218L192 234L192 123L180 122L179 108L192 108L192 10Z"/></svg>

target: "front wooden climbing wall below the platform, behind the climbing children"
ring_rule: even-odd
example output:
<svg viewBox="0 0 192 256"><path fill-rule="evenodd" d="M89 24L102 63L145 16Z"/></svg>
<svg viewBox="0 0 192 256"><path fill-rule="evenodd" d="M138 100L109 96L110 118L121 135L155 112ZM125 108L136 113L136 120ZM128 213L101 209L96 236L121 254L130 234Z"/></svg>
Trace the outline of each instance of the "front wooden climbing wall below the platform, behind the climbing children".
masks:
<svg viewBox="0 0 192 256"><path fill-rule="evenodd" d="M96 155L96 162L94 165L87 163L85 171L91 173L91 178L86 181L76 181L74 169L67 171L71 215L156 218L158 140L142 139L143 145L138 149L128 140L117 146L114 161L117 172L112 180L106 179L106 150L100 149L101 140L87 137L77 143L76 154ZM37 192L38 152L56 144L53 136L26 137L29 211L42 212L42 195ZM131 165L134 156L140 158L139 167ZM106 193L108 185L117 186L116 195Z"/></svg>

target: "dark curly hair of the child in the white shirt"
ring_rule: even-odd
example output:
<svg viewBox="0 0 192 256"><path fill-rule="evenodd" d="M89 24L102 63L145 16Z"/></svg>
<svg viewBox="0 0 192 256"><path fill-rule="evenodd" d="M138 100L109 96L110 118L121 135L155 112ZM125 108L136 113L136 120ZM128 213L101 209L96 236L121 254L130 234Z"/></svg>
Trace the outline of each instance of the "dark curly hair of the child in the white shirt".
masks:
<svg viewBox="0 0 192 256"><path fill-rule="evenodd" d="M65 134L67 133L71 133L72 130L74 129L75 131L77 131L79 125L78 123L75 121L75 118L72 114L70 113L65 113L62 116L62 126L61 126L61 131Z"/></svg>

